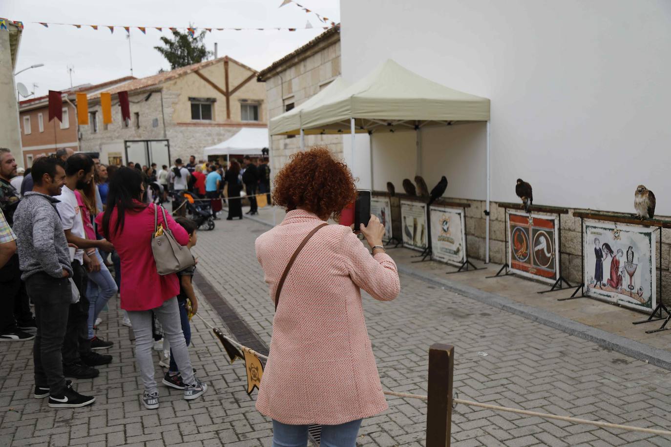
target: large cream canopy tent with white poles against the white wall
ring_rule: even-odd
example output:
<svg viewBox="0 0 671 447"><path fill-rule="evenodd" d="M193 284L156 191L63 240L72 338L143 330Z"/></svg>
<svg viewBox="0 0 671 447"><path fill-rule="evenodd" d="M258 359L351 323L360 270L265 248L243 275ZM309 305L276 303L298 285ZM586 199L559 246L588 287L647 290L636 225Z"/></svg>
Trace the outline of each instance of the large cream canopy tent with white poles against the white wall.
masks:
<svg viewBox="0 0 671 447"><path fill-rule="evenodd" d="M323 94L321 94L323 93ZM287 112L270 120L271 134L303 132L352 134L352 160L355 133L414 130L417 134L417 175L421 175L421 129L456 123L486 121L486 248L489 262L489 210L491 197L491 139L489 99L446 87L386 60L360 80L327 92L316 101L302 105L294 129L282 132L278 123L289 124ZM298 128L297 125L299 126ZM301 140L301 146L304 147ZM372 151L371 151L372 154ZM371 162L372 170L372 162ZM372 172L371 172L372 181Z"/></svg>

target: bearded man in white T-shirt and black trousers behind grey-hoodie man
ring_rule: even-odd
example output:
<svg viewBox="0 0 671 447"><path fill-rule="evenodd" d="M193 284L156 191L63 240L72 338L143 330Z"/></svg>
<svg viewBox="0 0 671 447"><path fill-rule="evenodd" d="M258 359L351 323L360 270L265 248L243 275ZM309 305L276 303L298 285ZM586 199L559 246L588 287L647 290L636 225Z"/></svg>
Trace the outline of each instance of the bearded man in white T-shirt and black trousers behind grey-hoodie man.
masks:
<svg viewBox="0 0 671 447"><path fill-rule="evenodd" d="M111 355L99 355L91 350L89 339L89 300L86 297L88 271L99 271L100 263L93 256L93 249L112 251L113 245L106 239L93 241L86 239L81 210L74 195L76 189L86 189L93 182L95 164L85 153L75 153L65 164L65 184L56 199L56 209L62 221L68 243L76 245L72 261L72 279L79 290L79 302L70 305L68 327L63 343L63 373L75 379L97 377L99 371L94 366L107 365ZM87 255L91 253L91 257Z"/></svg>

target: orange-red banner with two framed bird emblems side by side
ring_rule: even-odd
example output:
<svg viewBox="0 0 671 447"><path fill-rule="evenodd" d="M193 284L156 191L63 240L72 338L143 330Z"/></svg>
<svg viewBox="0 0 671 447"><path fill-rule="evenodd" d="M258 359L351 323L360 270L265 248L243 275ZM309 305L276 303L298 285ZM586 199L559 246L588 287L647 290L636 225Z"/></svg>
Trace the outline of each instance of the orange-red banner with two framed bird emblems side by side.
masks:
<svg viewBox="0 0 671 447"><path fill-rule="evenodd" d="M507 212L508 265L513 273L554 283L559 271L559 217Z"/></svg>

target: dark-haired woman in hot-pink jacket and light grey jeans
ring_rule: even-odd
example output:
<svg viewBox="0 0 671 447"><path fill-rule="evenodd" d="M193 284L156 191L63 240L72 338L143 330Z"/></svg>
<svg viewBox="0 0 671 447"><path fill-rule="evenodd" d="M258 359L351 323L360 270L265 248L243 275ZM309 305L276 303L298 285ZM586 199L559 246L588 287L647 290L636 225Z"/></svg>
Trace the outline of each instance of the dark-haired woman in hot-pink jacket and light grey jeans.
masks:
<svg viewBox="0 0 671 447"><path fill-rule="evenodd" d="M207 385L193 376L187 342L182 332L177 275L159 275L152 254L154 215L156 208L141 202L144 195L141 171L121 167L109 184L107 208L98 214L96 222L101 234L108 241L115 241L114 248L121 258L121 308L128 312L135 334L135 351L144 394L142 403L147 409L158 408L158 389L154 379L152 358L152 312L163 326L170 342L172 354L185 383L184 398L196 399L207 390ZM189 233L158 208L158 225L164 225L180 245L189 243Z"/></svg>

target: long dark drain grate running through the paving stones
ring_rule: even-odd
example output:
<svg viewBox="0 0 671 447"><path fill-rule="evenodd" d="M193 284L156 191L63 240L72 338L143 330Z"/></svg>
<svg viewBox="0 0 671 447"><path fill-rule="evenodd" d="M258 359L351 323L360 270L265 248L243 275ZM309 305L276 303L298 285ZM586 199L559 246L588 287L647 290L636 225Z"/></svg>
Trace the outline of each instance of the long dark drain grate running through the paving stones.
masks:
<svg viewBox="0 0 671 447"><path fill-rule="evenodd" d="M214 286L197 269L193 276L193 282L209 305L217 311L229 334L234 336L238 340L238 343L254 349L259 354L268 355L270 353L268 345L258 336L254 329L250 328L244 318L236 312L233 306L217 292ZM266 361L264 359L259 360L265 368ZM315 445L319 444L319 440L321 440L321 426L311 425L308 427L307 432L312 442Z"/></svg>

